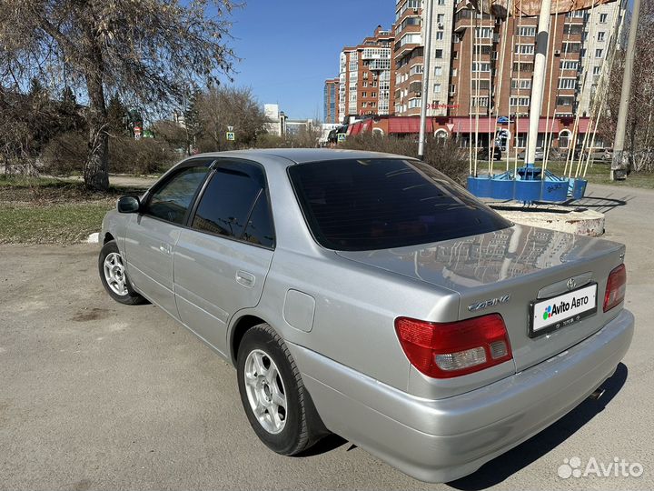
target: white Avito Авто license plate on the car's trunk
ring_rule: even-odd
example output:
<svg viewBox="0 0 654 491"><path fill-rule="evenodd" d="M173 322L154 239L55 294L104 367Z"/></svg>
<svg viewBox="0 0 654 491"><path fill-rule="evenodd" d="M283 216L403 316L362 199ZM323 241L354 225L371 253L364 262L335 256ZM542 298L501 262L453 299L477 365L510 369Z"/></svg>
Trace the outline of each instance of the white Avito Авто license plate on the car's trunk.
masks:
<svg viewBox="0 0 654 491"><path fill-rule="evenodd" d="M530 305L530 337L570 326L597 312L597 283Z"/></svg>

